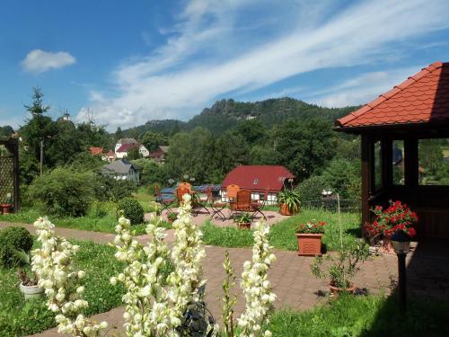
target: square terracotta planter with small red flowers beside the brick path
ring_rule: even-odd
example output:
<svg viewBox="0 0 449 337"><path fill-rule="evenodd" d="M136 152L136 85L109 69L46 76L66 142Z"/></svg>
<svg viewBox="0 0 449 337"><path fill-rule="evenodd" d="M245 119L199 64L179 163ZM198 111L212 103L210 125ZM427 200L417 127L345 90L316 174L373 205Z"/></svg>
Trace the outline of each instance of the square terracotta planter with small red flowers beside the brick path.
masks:
<svg viewBox="0 0 449 337"><path fill-rule="evenodd" d="M296 238L298 239L298 255L321 255L321 236L324 234L325 225L325 222L313 219L305 224L296 227Z"/></svg>

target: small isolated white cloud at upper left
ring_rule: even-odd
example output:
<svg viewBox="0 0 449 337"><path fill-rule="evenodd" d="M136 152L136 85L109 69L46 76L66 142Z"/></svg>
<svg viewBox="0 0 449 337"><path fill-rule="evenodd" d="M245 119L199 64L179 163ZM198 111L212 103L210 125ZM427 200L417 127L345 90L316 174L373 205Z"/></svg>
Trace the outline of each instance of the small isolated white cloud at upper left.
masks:
<svg viewBox="0 0 449 337"><path fill-rule="evenodd" d="M66 51L31 50L22 61L22 67L31 73L40 74L50 69L58 69L70 66L76 59Z"/></svg>

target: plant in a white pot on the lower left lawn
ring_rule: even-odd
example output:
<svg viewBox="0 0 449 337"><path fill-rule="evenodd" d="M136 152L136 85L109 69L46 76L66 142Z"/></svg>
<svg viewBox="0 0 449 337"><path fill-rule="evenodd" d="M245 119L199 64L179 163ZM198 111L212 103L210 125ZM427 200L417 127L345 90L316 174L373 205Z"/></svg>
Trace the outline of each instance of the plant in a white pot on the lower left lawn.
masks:
<svg viewBox="0 0 449 337"><path fill-rule="evenodd" d="M41 297L44 288L38 285L38 277L31 271L31 256L22 250L13 249L13 254L18 260L18 275L21 280L20 289L25 299Z"/></svg>

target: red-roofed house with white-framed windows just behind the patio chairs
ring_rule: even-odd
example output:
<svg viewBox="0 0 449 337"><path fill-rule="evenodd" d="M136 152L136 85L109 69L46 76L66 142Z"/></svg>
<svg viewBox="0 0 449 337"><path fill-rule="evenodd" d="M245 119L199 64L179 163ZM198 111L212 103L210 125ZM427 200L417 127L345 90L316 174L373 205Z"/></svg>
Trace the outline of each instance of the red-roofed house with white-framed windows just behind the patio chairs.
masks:
<svg viewBox="0 0 449 337"><path fill-rule="evenodd" d="M251 191L251 200L260 200L260 195L269 191L268 204L274 205L277 193L285 188L289 179L295 179L286 167L280 165L240 165L228 173L220 191L222 200L226 199L226 187L238 185L242 190Z"/></svg>

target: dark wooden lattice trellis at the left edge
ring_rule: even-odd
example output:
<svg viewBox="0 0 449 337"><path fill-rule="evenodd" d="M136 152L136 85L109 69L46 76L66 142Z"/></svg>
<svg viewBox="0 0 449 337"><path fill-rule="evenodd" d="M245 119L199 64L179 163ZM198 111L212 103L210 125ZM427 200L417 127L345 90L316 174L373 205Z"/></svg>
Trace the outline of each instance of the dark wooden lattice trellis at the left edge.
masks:
<svg viewBox="0 0 449 337"><path fill-rule="evenodd" d="M20 208L19 141L14 137L0 137L0 146L7 150L0 155L0 201L11 193L14 211L17 211Z"/></svg>

